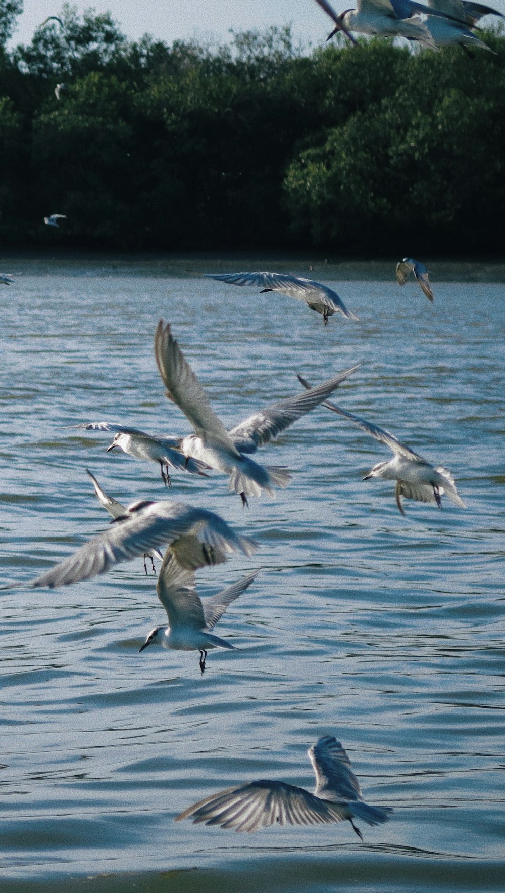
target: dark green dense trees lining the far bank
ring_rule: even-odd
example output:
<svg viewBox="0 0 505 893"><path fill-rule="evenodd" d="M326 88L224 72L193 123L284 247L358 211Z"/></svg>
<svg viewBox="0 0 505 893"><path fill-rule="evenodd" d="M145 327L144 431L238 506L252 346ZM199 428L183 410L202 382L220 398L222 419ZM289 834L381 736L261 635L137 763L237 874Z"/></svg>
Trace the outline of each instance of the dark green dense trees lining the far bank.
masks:
<svg viewBox="0 0 505 893"><path fill-rule="evenodd" d="M277 28L166 46L108 13L61 19L0 55L4 241L501 249L501 34L471 61L380 39L309 53Z"/></svg>

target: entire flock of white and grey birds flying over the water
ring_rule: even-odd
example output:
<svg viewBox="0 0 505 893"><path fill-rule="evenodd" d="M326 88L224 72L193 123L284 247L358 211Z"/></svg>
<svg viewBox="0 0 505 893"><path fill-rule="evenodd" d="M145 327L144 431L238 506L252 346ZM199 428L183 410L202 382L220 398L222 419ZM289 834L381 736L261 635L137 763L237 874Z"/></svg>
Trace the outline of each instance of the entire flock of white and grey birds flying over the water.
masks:
<svg viewBox="0 0 505 893"><path fill-rule="evenodd" d="M501 15L472 0L427 0L427 6L416 0L359 0L356 9L339 15L327 0L317 2L335 23L329 37L343 31L352 43L356 43L351 32L401 36L431 48L459 45L468 54L471 54L469 47L489 49L474 33L476 22L489 13ZM62 20L55 16L50 16L43 25L51 20L58 21L64 28ZM62 88L64 84L58 84L54 91L58 99ZM44 222L47 226L58 227L61 219L66 219L66 215L54 213L45 217ZM433 303L435 298L424 264L403 258L396 267L398 283L404 285L410 273ZM322 315L325 326L328 317L334 313L358 321L332 288L314 280L277 272L209 275L235 286L260 288L263 292L279 292L302 300ZM1 284L11 285L12 281L11 276L0 274ZM302 392L263 407L227 430L211 408L202 385L172 335L170 325L162 320L154 336L154 355L166 396L186 415L192 433L184 437L159 437L110 421L83 422L77 427L113 433L107 452L118 448L137 459L156 463L166 487L171 486L171 471L207 476L213 470L228 476L228 489L238 494L244 505L248 505L250 497L261 496L263 490L273 496L275 488L287 487L291 478L289 472L283 466L262 465L252 455L294 421L323 405L393 452L392 459L374 465L363 480L383 478L395 481L396 504L402 514L405 513L404 498L441 508L445 494L454 505L465 507L451 472L429 463L391 432L329 402L328 397L360 364L317 387L311 387L299 375L304 388ZM202 567L225 562L230 553L253 555L258 543L238 534L218 514L192 505L172 500L140 500L122 505L104 493L91 472L87 473L96 497L112 515L112 524L73 555L29 582L29 588L54 588L89 580L118 563L140 556L144 556L145 573L148 572L147 559L155 572L154 560L159 560L161 569L156 592L167 613L168 625L151 630L140 651L154 644L170 650L198 651L203 673L211 648L234 647L212 630L228 605L253 584L258 572L250 573L203 600L196 591L195 574ZM165 548L164 555L161 547ZM307 825L347 820L360 838L355 819L370 825L389 820L393 812L390 808L371 806L363 801L349 757L333 736L319 738L308 754L316 776L313 794L283 781L258 780L206 797L179 814L177 820L191 818L195 823L219 824L238 831L254 831L274 823Z"/></svg>

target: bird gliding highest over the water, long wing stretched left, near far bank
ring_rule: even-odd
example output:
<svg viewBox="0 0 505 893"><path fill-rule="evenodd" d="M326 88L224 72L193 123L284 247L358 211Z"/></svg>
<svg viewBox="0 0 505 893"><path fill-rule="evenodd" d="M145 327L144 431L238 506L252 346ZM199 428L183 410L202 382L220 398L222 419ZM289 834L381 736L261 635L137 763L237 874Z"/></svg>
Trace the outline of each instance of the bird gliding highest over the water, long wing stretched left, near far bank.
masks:
<svg viewBox="0 0 505 893"><path fill-rule="evenodd" d="M203 275L220 282L229 282L230 285L250 285L261 288L261 292L280 291L283 295L296 297L300 301L305 301L310 310L322 313L325 326L328 316L334 313L342 313L346 319L358 321L358 317L347 309L333 288L321 285L320 282L300 279L290 276L289 273L204 273Z"/></svg>

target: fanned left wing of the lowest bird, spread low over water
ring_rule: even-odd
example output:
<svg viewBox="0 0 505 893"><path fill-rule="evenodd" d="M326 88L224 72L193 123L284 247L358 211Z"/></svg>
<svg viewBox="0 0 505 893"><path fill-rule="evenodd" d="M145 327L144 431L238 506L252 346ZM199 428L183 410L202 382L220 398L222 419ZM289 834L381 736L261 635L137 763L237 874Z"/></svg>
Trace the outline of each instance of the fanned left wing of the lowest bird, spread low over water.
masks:
<svg viewBox="0 0 505 893"><path fill-rule="evenodd" d="M341 805L320 800L303 788L283 781L259 780L238 788L228 788L190 806L180 819L193 819L207 825L255 831L269 825L316 825L342 822Z"/></svg>

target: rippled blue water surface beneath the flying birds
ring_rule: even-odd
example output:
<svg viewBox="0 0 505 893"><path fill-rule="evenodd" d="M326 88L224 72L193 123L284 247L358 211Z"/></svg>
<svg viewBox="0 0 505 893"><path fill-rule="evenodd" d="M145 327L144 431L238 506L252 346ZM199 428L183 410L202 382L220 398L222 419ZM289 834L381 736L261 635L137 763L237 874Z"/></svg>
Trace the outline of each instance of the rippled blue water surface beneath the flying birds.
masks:
<svg viewBox="0 0 505 893"><path fill-rule="evenodd" d="M274 265L275 264L275 265ZM256 264L257 268L258 264ZM250 261L2 262L3 582L28 582L103 530L107 493L221 514L261 544L198 574L202 595L261 569L219 622L235 651L138 648L165 622L142 559L56 590L0 594L2 889L502 890L505 879L504 285L493 268L432 265L435 305L394 264L294 267L359 322L201 277ZM437 277L438 270L438 277ZM495 279L502 279L501 274ZM362 481L387 448L322 407L258 454L286 490L243 509L227 480L114 451L65 426L188 423L163 395L160 318L229 426L361 362L335 402L455 475L443 510ZM306 751L346 748L388 824L254 835L174 817L241 781L312 789ZM73 881L72 881L73 882Z"/></svg>

